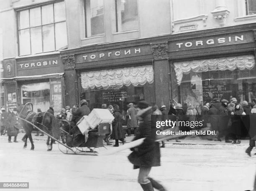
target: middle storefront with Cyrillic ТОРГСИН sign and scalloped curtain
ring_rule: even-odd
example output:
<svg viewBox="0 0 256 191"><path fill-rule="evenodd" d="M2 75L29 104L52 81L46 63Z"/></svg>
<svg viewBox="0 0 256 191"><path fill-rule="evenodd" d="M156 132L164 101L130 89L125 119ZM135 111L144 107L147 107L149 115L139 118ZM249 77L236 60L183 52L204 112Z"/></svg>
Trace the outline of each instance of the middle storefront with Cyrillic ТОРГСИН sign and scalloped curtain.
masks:
<svg viewBox="0 0 256 191"><path fill-rule="evenodd" d="M92 51L95 47L64 51L61 57L66 75L66 105L79 105L82 99L88 101L90 109L101 108L102 104L117 104L125 119L129 103L136 105L145 100L154 105L163 102L156 97L156 84L160 79L154 75L154 68L158 67L152 54L155 45L149 40L138 41L132 42L137 45L131 42L127 46L125 43L113 43L109 47L98 45L97 52ZM165 63L168 66L167 59ZM75 85L71 81L75 81ZM166 90L165 104L169 105L168 84Z"/></svg>

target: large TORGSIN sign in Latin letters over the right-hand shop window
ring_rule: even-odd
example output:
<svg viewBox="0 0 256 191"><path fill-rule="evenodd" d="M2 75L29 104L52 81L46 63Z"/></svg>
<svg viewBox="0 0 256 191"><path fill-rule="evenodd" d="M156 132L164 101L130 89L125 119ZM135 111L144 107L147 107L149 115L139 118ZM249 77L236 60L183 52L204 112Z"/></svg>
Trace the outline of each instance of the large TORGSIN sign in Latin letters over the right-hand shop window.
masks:
<svg viewBox="0 0 256 191"><path fill-rule="evenodd" d="M195 38L171 43L170 50L188 50L195 48L207 48L220 45L233 45L239 43L253 42L253 36L249 33L229 34L212 37Z"/></svg>

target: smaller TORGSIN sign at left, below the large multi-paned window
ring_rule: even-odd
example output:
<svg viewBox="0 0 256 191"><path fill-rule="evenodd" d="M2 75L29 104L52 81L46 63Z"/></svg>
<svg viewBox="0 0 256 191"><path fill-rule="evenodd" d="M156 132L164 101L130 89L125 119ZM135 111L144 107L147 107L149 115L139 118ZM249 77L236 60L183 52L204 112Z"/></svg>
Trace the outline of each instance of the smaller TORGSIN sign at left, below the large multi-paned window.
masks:
<svg viewBox="0 0 256 191"><path fill-rule="evenodd" d="M53 67L53 66L57 66L59 64L60 64L59 59L36 60L36 61L32 61L32 62L18 63L18 70Z"/></svg>

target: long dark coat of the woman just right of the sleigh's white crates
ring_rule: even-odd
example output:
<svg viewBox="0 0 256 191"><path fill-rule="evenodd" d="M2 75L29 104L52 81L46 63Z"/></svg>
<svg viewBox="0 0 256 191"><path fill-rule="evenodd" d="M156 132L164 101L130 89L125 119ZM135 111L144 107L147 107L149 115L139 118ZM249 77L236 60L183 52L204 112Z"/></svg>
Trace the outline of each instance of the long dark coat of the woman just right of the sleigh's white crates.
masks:
<svg viewBox="0 0 256 191"><path fill-rule="evenodd" d="M122 114L120 113L120 110L114 111L113 116L115 117L115 119L112 123L112 137L113 137L113 139L125 138L125 133L123 131L123 126L122 126L122 123L121 123Z"/></svg>

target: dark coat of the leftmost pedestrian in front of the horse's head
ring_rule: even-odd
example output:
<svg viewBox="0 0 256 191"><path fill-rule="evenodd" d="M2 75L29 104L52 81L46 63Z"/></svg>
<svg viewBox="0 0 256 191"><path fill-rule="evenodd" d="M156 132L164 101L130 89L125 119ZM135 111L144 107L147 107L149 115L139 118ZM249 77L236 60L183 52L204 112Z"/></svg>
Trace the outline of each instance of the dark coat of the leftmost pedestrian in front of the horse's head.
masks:
<svg viewBox="0 0 256 191"><path fill-rule="evenodd" d="M8 115L6 119L7 126L7 135L8 136L17 136L19 133L19 121L17 116L12 112Z"/></svg>

